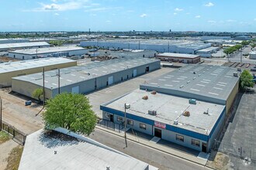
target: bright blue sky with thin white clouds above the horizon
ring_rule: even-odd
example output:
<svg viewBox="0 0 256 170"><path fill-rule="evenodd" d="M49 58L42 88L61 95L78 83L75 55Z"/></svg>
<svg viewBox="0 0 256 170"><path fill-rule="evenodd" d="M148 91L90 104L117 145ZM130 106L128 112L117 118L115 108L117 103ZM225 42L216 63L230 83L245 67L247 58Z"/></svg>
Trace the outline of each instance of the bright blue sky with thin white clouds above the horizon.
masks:
<svg viewBox="0 0 256 170"><path fill-rule="evenodd" d="M0 31L256 32L255 0L0 0Z"/></svg>

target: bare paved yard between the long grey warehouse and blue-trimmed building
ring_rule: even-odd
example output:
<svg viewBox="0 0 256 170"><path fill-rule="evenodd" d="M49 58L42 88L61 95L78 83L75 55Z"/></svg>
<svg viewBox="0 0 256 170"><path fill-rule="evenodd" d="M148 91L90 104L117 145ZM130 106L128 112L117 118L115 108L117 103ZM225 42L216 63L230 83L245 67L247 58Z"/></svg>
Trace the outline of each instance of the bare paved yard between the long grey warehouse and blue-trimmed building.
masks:
<svg viewBox="0 0 256 170"><path fill-rule="evenodd" d="M99 117L102 117L102 111L99 109L99 106L101 104L104 104L109 100L115 99L116 97L120 97L123 94L129 93L130 91L138 89L141 83L144 83L145 81L147 82L148 80L154 79L155 77L161 76L164 73L168 73L172 70L175 69L161 68L160 70L155 70L154 72L150 72L142 76L137 76L122 83L114 84L111 87L89 93L86 96L89 98L95 114L97 114Z"/></svg>

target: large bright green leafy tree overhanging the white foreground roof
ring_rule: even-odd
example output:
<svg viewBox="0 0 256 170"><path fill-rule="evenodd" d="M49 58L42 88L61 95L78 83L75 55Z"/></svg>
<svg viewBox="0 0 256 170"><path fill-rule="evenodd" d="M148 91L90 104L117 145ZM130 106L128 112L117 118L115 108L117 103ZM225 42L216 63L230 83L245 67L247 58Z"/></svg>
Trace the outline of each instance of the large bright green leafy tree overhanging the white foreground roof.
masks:
<svg viewBox="0 0 256 170"><path fill-rule="evenodd" d="M46 128L66 128L89 135L95 128L97 117L87 97L82 94L61 93L47 100L43 121Z"/></svg>

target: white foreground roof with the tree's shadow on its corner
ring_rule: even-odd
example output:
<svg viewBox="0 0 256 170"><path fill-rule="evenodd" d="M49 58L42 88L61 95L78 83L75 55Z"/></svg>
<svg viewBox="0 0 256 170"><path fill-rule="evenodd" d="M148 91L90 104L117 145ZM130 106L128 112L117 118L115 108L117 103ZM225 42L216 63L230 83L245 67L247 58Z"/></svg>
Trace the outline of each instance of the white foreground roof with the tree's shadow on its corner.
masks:
<svg viewBox="0 0 256 170"><path fill-rule="evenodd" d="M57 153L54 154L54 151L57 151ZM47 134L42 129L26 137L19 170L102 170L106 169L107 166L109 166L110 170L144 170L148 164L72 132L68 135L61 132Z"/></svg>

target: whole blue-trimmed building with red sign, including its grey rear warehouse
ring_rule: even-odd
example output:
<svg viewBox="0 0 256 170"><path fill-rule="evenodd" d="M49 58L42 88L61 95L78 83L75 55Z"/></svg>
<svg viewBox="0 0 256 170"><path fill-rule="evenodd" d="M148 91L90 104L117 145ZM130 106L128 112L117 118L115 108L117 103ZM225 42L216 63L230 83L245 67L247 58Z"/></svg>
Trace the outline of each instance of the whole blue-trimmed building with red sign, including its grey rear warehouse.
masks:
<svg viewBox="0 0 256 170"><path fill-rule="evenodd" d="M209 152L238 92L239 77L226 66L188 65L101 105L104 120Z"/></svg>

